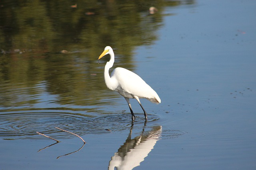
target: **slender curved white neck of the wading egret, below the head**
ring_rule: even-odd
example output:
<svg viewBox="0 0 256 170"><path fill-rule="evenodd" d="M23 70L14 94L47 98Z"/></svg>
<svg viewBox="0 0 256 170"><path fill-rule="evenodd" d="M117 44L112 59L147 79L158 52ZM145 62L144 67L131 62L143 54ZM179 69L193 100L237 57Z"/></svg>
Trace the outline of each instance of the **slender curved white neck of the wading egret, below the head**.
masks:
<svg viewBox="0 0 256 170"><path fill-rule="evenodd" d="M114 53L110 53L110 61L106 63L105 70L104 70L105 83L110 90L114 90L114 87L115 87L115 81L112 80L111 77L109 76L109 69L113 66L114 61L115 61Z"/></svg>

